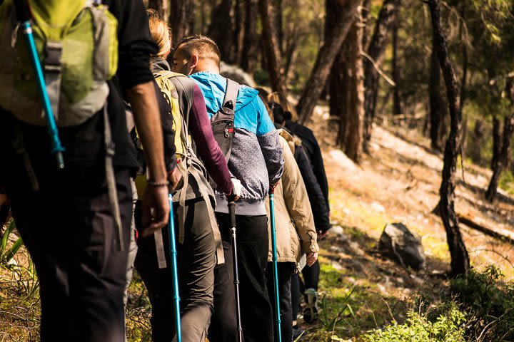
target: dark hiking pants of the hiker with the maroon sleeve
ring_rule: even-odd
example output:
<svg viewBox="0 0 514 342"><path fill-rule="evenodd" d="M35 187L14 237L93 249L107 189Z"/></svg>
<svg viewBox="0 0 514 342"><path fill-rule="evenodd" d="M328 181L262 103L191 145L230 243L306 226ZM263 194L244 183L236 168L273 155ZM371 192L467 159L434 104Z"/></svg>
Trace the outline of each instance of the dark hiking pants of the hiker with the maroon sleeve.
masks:
<svg viewBox="0 0 514 342"><path fill-rule="evenodd" d="M208 217L207 204L200 199L186 201L184 242L178 243L177 206L175 233L177 246L178 289L181 304L181 329L183 342L205 342L213 306L214 266L216 244ZM136 227L140 214L136 209ZM162 229L166 268L158 268L154 236L139 237L136 270L143 279L152 305L150 318L153 342L171 342L176 335L173 311L173 286L171 276L169 231Z"/></svg>

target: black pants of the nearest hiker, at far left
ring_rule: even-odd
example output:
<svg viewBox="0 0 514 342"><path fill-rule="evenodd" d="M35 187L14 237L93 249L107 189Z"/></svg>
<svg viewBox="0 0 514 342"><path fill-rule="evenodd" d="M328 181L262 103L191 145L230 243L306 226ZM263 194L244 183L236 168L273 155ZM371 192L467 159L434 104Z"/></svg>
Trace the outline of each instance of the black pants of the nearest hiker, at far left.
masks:
<svg viewBox="0 0 514 342"><path fill-rule="evenodd" d="M116 170L125 250L111 214L104 163L34 157L34 191L21 158L1 150L0 183L39 276L42 342L124 342L124 288L132 219L129 170ZM44 160L44 162L41 162Z"/></svg>

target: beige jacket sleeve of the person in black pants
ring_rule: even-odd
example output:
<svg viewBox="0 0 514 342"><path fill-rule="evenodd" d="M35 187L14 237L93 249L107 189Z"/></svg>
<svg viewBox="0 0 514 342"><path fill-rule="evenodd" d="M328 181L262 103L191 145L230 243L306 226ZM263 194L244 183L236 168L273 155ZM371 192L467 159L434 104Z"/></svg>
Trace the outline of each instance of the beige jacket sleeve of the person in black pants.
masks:
<svg viewBox="0 0 514 342"><path fill-rule="evenodd" d="M300 170L286 140L281 138L284 155L284 171L282 175L283 198L289 216L295 222L296 232L300 237L303 252L318 252L318 235L314 229L314 218L309 204L307 190L303 183Z"/></svg>

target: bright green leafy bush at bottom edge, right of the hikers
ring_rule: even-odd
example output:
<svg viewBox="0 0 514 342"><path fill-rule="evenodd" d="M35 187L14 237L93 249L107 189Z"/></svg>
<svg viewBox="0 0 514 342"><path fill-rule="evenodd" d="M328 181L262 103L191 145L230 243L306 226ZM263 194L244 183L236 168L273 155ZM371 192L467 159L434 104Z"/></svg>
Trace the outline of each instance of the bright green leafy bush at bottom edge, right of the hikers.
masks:
<svg viewBox="0 0 514 342"><path fill-rule="evenodd" d="M366 333L362 340L366 342L464 342L463 323L465 314L453 304L448 311L440 314L435 321L430 321L426 314L408 311L405 323L393 321L383 329Z"/></svg>

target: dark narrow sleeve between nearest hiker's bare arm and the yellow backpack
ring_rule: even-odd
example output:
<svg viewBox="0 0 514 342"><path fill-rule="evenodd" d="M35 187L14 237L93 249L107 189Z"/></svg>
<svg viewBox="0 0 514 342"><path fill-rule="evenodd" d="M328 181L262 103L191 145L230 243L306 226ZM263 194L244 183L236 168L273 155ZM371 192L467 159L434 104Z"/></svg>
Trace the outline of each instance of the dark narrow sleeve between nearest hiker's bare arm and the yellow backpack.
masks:
<svg viewBox="0 0 514 342"><path fill-rule="evenodd" d="M153 78L152 78L153 79ZM171 107L158 88L157 83L153 82L156 89L157 103L159 113L161 114L161 126L163 130L163 147L164 162L166 162L166 171L171 171L176 167L176 147L175 147L175 130L173 130L173 116L171 115Z"/></svg>

